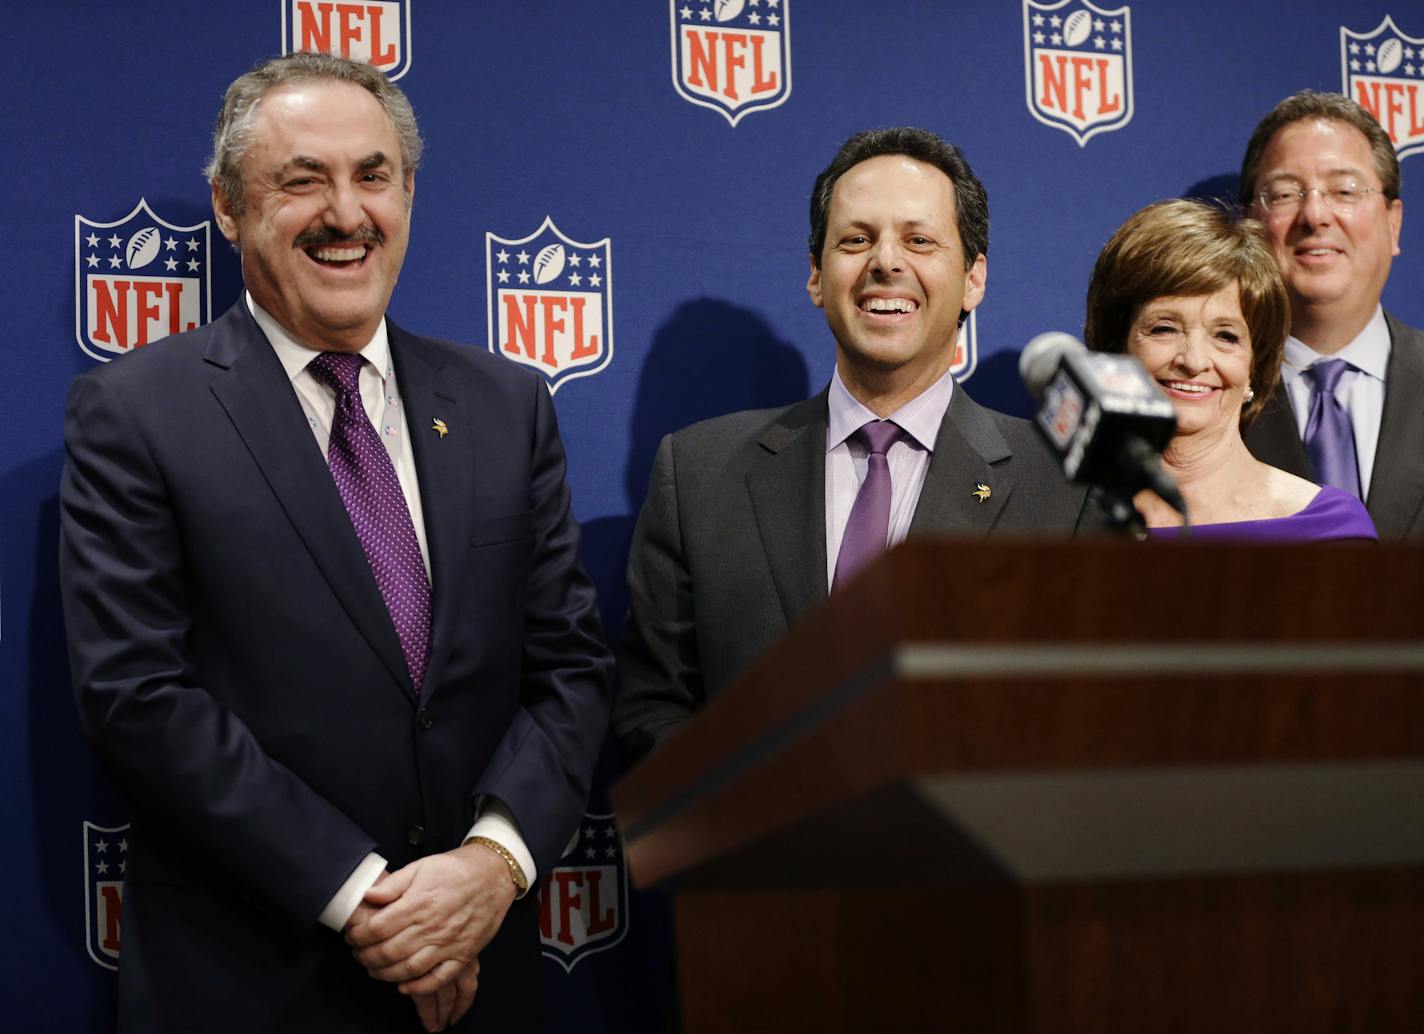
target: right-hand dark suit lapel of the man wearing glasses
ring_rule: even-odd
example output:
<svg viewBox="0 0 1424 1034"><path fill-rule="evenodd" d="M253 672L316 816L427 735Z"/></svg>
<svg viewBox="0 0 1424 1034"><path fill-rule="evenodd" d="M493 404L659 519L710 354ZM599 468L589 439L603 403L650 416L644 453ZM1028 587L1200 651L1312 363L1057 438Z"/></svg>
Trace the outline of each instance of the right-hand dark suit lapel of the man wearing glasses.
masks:
<svg viewBox="0 0 1424 1034"><path fill-rule="evenodd" d="M1390 366L1367 508L1381 538L1405 536L1424 503L1424 333L1386 315Z"/></svg>

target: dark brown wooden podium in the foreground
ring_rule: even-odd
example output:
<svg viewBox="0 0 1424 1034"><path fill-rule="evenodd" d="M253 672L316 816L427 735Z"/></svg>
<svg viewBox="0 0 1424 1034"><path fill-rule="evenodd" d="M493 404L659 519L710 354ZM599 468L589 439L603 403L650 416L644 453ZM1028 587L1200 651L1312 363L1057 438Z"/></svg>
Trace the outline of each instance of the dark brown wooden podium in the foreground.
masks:
<svg viewBox="0 0 1424 1034"><path fill-rule="evenodd" d="M1417 1034L1424 550L906 543L614 805L686 1034Z"/></svg>

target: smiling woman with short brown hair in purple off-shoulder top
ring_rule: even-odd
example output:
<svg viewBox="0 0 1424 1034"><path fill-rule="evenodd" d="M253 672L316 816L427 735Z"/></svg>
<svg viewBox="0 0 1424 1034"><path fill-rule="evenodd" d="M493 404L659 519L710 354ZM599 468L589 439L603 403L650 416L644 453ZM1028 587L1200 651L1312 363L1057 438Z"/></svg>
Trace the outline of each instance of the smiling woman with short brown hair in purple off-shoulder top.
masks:
<svg viewBox="0 0 1424 1034"><path fill-rule="evenodd" d="M1162 460L1198 538L1377 537L1357 498L1262 463L1242 440L1280 379L1289 319L1265 228L1199 201L1148 205L1094 266L1084 339L1136 357L1172 399ZM1149 491L1134 503L1158 536L1182 524Z"/></svg>

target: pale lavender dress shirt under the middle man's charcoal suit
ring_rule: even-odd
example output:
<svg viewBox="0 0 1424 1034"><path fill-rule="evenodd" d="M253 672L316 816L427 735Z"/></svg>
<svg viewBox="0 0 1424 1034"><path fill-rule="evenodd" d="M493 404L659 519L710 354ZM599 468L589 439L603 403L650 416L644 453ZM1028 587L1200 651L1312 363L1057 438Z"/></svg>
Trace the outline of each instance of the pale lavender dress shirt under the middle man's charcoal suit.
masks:
<svg viewBox="0 0 1424 1034"><path fill-rule="evenodd" d="M946 372L886 417L906 432L886 453L890 466L887 548L904 541L910 534L914 507L920 501L924 476L934 454L934 440L940 434L940 424L944 423L944 413L950 407L953 395L954 377ZM830 410L826 424L826 587L829 590L836 578L836 560L840 557L840 541L846 536L850 508L856 504L856 493L860 491L860 483L870 470L866 447L849 439L864 424L880 417L846 389L839 369L830 377L830 395L826 402Z"/></svg>

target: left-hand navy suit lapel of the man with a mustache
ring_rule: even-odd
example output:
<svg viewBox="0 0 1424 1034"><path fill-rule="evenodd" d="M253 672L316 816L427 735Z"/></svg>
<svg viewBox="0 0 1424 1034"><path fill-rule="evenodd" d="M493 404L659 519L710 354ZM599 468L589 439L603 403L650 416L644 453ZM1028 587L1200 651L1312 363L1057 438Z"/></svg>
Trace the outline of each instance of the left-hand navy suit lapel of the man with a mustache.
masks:
<svg viewBox="0 0 1424 1034"><path fill-rule="evenodd" d="M410 674L400 639L350 516L312 439L286 372L244 302L214 326L204 357L221 370L212 382L212 393L242 436L278 504L352 622L409 692Z"/></svg>

